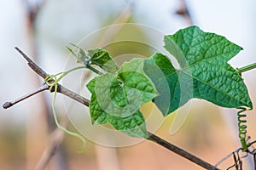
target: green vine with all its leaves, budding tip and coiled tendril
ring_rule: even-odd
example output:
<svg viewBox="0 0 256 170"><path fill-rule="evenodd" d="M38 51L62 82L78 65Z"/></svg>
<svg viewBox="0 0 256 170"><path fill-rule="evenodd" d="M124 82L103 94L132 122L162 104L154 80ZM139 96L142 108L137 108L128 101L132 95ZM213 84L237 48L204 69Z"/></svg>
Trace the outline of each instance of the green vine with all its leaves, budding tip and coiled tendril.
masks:
<svg viewBox="0 0 256 170"><path fill-rule="evenodd" d="M73 45L78 49L75 53L69 48L79 61L99 75L87 84L92 122L108 122L130 136L148 139L145 120L139 111L141 105L152 100L162 115L167 116L189 99L206 99L239 110L239 138L242 149L247 150L246 115L241 112L252 110L253 105L241 71L227 63L242 48L197 26L166 36L164 42L166 50L177 59L179 69L160 53L148 59L131 59L119 67L104 49L85 52Z"/></svg>

